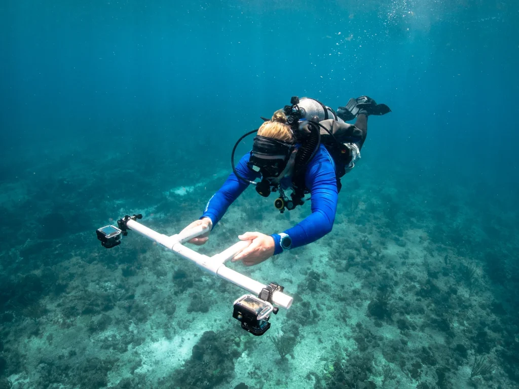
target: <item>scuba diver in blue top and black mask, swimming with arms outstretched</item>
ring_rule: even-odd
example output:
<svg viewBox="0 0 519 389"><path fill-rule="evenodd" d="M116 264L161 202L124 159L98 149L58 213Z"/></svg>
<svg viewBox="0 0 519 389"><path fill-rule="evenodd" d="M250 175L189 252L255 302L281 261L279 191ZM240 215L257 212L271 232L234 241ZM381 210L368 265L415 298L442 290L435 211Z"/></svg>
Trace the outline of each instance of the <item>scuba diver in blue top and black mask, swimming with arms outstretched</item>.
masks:
<svg viewBox="0 0 519 389"><path fill-rule="evenodd" d="M251 244L233 261L241 260L245 266L257 265L273 255L322 238L332 231L337 195L342 187L340 178L360 158L368 116L388 112L391 109L387 105L377 104L367 96L350 99L337 113L317 100L299 100L294 96L291 105L276 111L271 119L262 117L264 123L259 129L240 137L231 156L233 173L209 199L200 219L184 230L206 226L210 231L229 205L252 184L263 197L279 192L274 205L281 213L303 205L305 195L310 193L311 214L280 233L239 235L240 240L249 240ZM354 124L346 123L354 118L357 118ZM252 150L235 166L236 147L245 136L256 131ZM290 198L284 192L288 189L292 189ZM209 233L189 243L202 245L208 241Z"/></svg>

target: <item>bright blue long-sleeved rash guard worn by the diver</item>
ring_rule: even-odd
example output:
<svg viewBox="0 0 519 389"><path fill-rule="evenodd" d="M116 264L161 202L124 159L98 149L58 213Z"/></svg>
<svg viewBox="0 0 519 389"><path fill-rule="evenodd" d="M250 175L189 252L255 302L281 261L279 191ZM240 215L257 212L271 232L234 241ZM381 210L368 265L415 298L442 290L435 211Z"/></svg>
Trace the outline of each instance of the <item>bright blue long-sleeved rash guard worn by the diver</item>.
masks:
<svg viewBox="0 0 519 389"><path fill-rule="evenodd" d="M250 169L247 162L249 162L249 154L244 155L236 166L238 174L250 181L260 178L260 173ZM288 187L291 181L292 177L283 177L281 186ZM301 223L283 231L292 238L292 248L315 242L332 231L335 212L337 211L337 179L335 177L335 163L323 145L308 163L305 184L310 190L312 213ZM244 183L234 173L231 173L224 185L207 203L202 217L209 217L214 227L225 214L229 205L248 186L248 183ZM280 244L280 236L273 234L271 237L274 238L276 243L274 254L281 253L283 250Z"/></svg>

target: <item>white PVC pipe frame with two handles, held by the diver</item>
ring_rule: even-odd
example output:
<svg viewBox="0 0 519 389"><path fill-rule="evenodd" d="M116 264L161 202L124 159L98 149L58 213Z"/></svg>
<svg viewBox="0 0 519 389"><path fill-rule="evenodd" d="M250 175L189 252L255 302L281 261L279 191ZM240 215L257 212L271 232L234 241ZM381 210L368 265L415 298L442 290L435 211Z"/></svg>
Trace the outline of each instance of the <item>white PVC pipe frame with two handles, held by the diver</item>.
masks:
<svg viewBox="0 0 519 389"><path fill-rule="evenodd" d="M127 221L126 226L129 229L140 233L144 237L157 242L161 246L166 247L168 250L171 250L172 252L177 253L186 259L192 260L198 265L198 267L202 268L203 270L217 275L224 280L230 281L245 290L249 290L256 296L258 296L263 288L266 287L266 285L263 285L262 283L257 282L248 276L240 274L233 269L229 269L224 265L224 262L233 258L245 247L249 246L250 241L240 241L233 246L230 246L220 254L208 257L207 255L197 253L196 251L182 244L207 232L208 228L202 228L202 226L198 226L184 233L181 232L179 234L168 237L167 235L158 233L132 219ZM292 297L285 295L281 291L275 291L272 294L272 303L274 305L279 305L279 307L284 309L289 309L293 300L294 299Z"/></svg>

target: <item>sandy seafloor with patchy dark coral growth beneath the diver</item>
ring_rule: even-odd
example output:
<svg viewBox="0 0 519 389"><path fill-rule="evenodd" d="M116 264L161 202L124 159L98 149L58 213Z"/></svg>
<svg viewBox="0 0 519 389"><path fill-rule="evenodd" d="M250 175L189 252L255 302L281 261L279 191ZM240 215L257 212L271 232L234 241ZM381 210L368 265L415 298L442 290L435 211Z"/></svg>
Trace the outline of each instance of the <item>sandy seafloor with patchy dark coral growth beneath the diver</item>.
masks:
<svg viewBox="0 0 519 389"><path fill-rule="evenodd" d="M2 227L0 388L517 387L516 302L506 300L517 211L511 199L473 201L479 183L463 177L439 185L432 173L363 163L343 178L331 234L256 267L229 264L295 297L259 338L231 317L238 287L135 233L111 250L95 240L95 227L127 213L178 232L224 167L169 190L144 177L151 203L102 174L86 178L81 162L3 182L4 216L20 221ZM242 232L280 232L309 213L306 204L280 215L273 200L249 188L197 249L212 255ZM272 336L288 342L284 358Z"/></svg>

